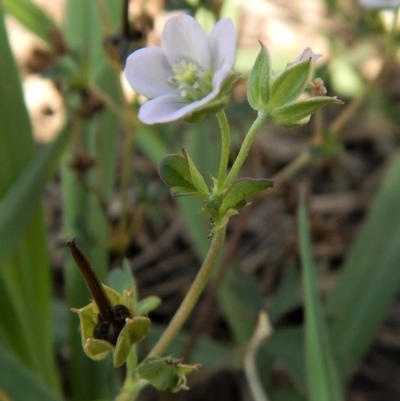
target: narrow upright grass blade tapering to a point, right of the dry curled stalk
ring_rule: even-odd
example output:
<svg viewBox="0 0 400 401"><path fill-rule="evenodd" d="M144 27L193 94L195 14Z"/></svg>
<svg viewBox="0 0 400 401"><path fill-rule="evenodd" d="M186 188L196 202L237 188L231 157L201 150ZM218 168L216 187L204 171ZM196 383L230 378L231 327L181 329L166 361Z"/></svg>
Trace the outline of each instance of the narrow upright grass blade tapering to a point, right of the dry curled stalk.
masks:
<svg viewBox="0 0 400 401"><path fill-rule="evenodd" d="M342 383L318 296L304 198L298 210L300 256L304 286L305 352L310 401L343 401Z"/></svg>

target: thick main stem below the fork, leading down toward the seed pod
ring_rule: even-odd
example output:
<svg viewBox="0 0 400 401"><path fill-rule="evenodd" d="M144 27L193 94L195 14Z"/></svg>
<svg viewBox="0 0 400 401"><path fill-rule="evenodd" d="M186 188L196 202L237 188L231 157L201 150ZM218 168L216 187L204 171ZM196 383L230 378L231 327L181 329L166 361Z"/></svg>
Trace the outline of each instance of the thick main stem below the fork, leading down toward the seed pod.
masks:
<svg viewBox="0 0 400 401"><path fill-rule="evenodd" d="M148 355L149 357L161 356L167 350L169 345L172 343L172 341L186 322L194 306L196 305L197 300L203 292L203 289L206 286L208 279L210 278L214 266L218 261L225 242L225 232L226 226L221 227L215 232L210 245L210 249L208 250L207 256L204 259L203 265L197 273L197 276L193 281L192 286L186 294L186 297L183 300L181 306L176 311L175 316L169 323L167 329L159 338L157 344L150 351Z"/></svg>

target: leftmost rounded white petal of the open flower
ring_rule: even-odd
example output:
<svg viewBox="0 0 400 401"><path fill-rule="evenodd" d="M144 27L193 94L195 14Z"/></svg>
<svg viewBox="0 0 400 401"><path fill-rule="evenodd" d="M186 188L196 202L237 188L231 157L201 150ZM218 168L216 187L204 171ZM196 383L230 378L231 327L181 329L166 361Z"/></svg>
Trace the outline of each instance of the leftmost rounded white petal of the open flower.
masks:
<svg viewBox="0 0 400 401"><path fill-rule="evenodd" d="M147 47L133 52L126 60L124 72L133 90L148 98L176 91L167 82L172 74L171 67L164 52L158 47Z"/></svg>

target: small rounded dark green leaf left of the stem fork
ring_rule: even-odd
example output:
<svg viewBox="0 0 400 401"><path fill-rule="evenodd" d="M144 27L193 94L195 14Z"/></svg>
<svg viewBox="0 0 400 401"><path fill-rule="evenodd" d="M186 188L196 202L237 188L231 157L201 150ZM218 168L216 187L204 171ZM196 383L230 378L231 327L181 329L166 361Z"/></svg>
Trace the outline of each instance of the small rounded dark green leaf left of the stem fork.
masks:
<svg viewBox="0 0 400 401"><path fill-rule="evenodd" d="M179 191L197 193L197 188L191 183L187 161L180 155L167 155L159 164L158 171L161 179L170 187Z"/></svg>

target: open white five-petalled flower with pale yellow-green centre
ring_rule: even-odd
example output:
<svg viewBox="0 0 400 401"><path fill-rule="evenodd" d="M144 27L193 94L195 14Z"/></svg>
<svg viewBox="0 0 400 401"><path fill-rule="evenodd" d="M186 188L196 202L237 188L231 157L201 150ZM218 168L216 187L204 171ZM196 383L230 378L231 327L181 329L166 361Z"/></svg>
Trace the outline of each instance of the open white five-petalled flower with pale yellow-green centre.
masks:
<svg viewBox="0 0 400 401"><path fill-rule="evenodd" d="M155 124L190 117L216 100L232 75L236 34L230 19L220 20L207 36L189 15L170 18L162 48L132 53L125 75L132 88L149 100L139 119Z"/></svg>

